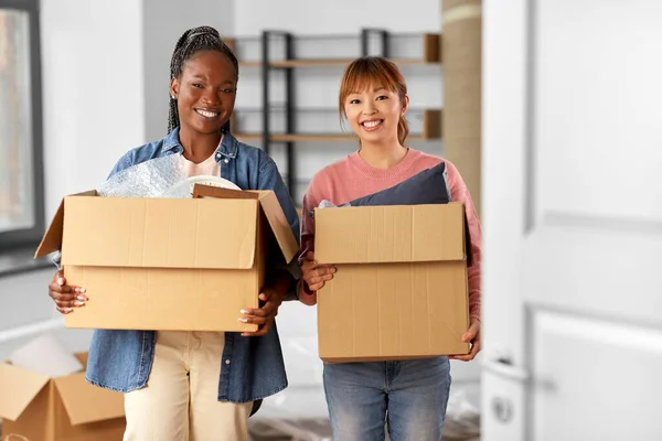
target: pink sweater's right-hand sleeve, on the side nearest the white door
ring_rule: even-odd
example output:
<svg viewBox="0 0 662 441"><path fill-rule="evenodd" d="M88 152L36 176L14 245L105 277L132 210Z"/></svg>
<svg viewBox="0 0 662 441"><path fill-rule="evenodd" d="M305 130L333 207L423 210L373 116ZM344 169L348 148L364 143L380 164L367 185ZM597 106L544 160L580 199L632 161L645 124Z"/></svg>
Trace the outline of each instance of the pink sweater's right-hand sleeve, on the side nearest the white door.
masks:
<svg viewBox="0 0 662 441"><path fill-rule="evenodd" d="M471 201L469 189L465 184L458 169L446 161L448 169L448 186L450 187L450 198L455 202L462 202L467 212L467 223L469 224L469 235L471 236L471 255L473 265L468 268L469 278L469 316L481 320L481 241L482 232L480 220Z"/></svg>

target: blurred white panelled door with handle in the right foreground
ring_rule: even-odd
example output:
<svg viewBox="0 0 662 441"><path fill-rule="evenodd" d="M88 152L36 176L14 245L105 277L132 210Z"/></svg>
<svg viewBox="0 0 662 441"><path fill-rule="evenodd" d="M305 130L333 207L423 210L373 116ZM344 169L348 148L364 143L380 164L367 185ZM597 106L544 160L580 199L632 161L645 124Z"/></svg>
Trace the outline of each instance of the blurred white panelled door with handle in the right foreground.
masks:
<svg viewBox="0 0 662 441"><path fill-rule="evenodd" d="M483 1L483 441L662 440L662 1Z"/></svg>

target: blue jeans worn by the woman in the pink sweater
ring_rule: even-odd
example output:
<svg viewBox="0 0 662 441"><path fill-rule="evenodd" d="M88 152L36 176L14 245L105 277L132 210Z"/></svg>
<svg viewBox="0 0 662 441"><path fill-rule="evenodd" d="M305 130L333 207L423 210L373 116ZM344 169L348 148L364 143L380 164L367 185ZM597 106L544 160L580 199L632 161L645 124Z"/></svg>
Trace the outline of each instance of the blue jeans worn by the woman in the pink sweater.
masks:
<svg viewBox="0 0 662 441"><path fill-rule="evenodd" d="M447 357L324 364L334 441L439 441L449 389Z"/></svg>

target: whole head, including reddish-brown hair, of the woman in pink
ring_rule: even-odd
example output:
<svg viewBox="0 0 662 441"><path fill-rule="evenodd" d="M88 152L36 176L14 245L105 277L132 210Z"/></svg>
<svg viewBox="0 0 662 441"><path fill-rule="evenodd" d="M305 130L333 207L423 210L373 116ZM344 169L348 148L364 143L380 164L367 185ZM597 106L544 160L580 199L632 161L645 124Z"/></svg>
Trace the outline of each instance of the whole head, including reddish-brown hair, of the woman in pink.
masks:
<svg viewBox="0 0 662 441"><path fill-rule="evenodd" d="M405 79L386 58L357 58L345 69L340 85L340 116L348 119L362 146L404 146L409 132L404 118L408 106Z"/></svg>

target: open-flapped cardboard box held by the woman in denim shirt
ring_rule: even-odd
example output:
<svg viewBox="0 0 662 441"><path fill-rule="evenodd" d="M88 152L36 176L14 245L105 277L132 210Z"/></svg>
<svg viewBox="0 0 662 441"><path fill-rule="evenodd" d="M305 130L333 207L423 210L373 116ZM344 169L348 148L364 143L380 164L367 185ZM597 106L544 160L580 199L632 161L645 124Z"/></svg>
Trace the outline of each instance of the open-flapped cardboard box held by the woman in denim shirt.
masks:
<svg viewBox="0 0 662 441"><path fill-rule="evenodd" d="M299 246L274 192L196 184L194 198L66 196L35 257L58 249L89 299L67 327L243 332L267 257Z"/></svg>

